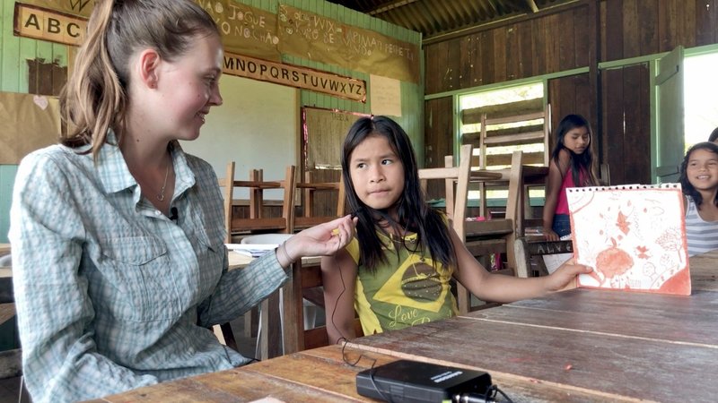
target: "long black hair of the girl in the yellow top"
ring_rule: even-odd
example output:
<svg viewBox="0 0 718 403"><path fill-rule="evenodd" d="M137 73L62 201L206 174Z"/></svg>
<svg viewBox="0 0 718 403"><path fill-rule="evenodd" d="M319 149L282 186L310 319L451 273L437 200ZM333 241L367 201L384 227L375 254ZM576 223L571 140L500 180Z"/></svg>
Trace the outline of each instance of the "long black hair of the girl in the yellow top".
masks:
<svg viewBox="0 0 718 403"><path fill-rule="evenodd" d="M404 192L396 202L398 212L396 221L389 216L387 210L372 209L359 199L349 173L352 152L362 141L372 136L387 139L404 167ZM430 208L425 201L425 194L419 182L416 155L407 133L401 126L386 116L358 119L349 129L344 140L342 175L349 208L358 218L356 236L361 245L360 262L363 267L374 272L381 262L388 262L383 248L385 245L381 243L381 238L377 234L377 231L382 231L389 236L385 228L377 225L381 219L389 223L395 234L403 234L403 230L416 233L416 245L428 249L433 262L455 266L456 254L451 243L449 228L442 214Z"/></svg>

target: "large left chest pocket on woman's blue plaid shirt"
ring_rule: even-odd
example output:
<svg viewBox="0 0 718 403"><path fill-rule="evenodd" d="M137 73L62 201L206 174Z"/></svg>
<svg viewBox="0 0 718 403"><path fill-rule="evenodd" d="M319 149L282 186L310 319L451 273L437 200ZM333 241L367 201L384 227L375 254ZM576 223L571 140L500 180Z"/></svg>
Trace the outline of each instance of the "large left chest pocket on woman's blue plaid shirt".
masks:
<svg viewBox="0 0 718 403"><path fill-rule="evenodd" d="M101 244L101 301L97 309L118 318L148 322L179 317L184 305L167 247L150 236L109 238Z"/></svg>

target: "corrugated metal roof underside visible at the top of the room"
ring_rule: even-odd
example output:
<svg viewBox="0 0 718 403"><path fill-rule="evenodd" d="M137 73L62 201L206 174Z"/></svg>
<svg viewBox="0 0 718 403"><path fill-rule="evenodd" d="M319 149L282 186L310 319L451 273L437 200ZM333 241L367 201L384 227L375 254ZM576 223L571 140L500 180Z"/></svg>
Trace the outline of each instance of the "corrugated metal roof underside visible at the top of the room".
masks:
<svg viewBox="0 0 718 403"><path fill-rule="evenodd" d="M576 0L328 0L423 34L424 39Z"/></svg>

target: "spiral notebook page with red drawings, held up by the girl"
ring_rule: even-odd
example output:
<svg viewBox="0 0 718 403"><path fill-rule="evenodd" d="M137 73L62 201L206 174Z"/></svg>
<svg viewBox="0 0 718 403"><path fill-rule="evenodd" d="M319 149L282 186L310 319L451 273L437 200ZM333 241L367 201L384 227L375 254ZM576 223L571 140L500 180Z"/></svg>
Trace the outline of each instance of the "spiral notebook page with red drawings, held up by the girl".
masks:
<svg viewBox="0 0 718 403"><path fill-rule="evenodd" d="M690 295L680 184L566 189L578 287Z"/></svg>

